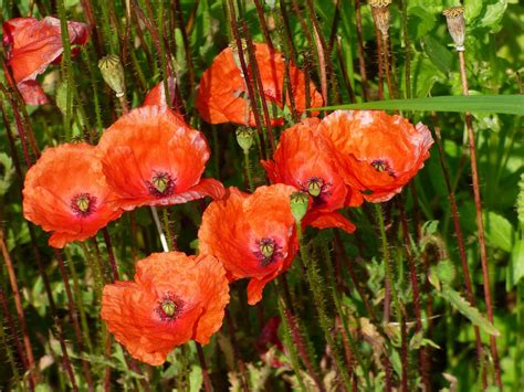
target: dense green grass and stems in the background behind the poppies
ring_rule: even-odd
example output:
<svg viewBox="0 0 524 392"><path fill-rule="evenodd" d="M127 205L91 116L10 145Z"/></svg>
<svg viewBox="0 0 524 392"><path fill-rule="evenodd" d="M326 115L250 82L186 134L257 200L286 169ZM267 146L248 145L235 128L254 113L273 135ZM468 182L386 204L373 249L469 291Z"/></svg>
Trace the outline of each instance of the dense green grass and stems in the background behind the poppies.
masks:
<svg viewBox="0 0 524 392"><path fill-rule="evenodd" d="M281 0L256 3L260 3L268 27L265 33L273 44L306 68L319 91L323 85L321 70L327 70L326 106L377 100L382 88L379 85L384 85L385 99L391 96L405 99L462 94L459 57L442 15L444 8L458 6L458 1L394 1L389 30L394 94L379 78L375 25L366 2ZM468 27L465 65L470 95L522 94L524 8L516 0L468 0L463 6ZM101 282L96 279L96 271L102 266L104 282L111 280L106 242L98 234L93 241L67 245L56 254L46 245L48 235L24 221L21 176L27 170L27 162L22 158L15 116L21 117L22 128L30 137L34 136L34 145L40 149L84 138L96 142L103 129L122 114L119 100L102 80L97 61L108 53L123 59L129 107L142 104L148 89L168 74L167 63L171 62L178 81L180 108L187 121L206 134L212 148L206 174L221 180L224 186L245 190L243 155L234 135L237 127L206 124L193 108L201 73L232 41L228 7L228 1L212 0L1 1L2 21L21 15L41 19L52 14L63 20L84 21L94 28L90 43L76 57L64 55L61 64L51 66L39 77L51 104L25 107L11 95L2 73L0 96L6 129L0 130L0 240L6 252L0 266L0 299L7 308L0 311L1 390L28 388L28 373L15 345L22 332L4 263L8 255L14 264L29 339L39 365L39 389L65 390L71 386L62 368L61 336L67 345L75 379L82 390L87 388L82 359L88 362L94 383L99 389L127 390L150 385L151 390L176 388L196 391L202 388L201 365L192 342L177 348L164 367L140 365L139 371L128 370L124 359L126 353L118 345L113 343L106 351L107 332L98 316ZM252 40L263 42L264 30L255 3L238 0L234 7L239 19L245 21ZM357 29L356 10L361 18L361 34ZM130 19L126 18L127 12ZM319 29L318 40L314 39L315 29ZM322 47L318 42L322 41L326 50L325 64L318 61ZM360 55L359 44L364 49ZM366 71L367 81L364 82L367 89L363 83L363 70ZM488 385L496 390L496 361L486 333L494 332L494 328L502 383L505 390L524 390L522 99L516 107L521 116L501 114L504 110L497 110L495 105L493 112L475 112L473 104L469 107L476 139L493 325L485 316L483 286L486 283L481 268L464 114L442 112L438 106L433 108L436 114L405 109L404 116L412 123L423 121L432 130L440 128L443 155L440 156L438 146L433 146L431 158L415 181L402 194L381 206L394 265L392 289L402 311L392 310L391 321L382 321L385 267L379 222L373 204L350 209L346 211L347 216L358 227L354 235L334 230L310 230L306 233L315 263L307 273L313 274L317 293L324 298L322 304L312 296L300 263L294 263L286 274L289 287L282 280L279 287L269 285L263 301L256 307L247 305L244 282L232 285L229 316L221 331L205 347L214 389L300 389L297 373L292 367L293 350L290 351L290 346L293 346L295 350L298 348L301 357L308 353L326 390L347 388L340 373L348 374L354 390L385 390L385 358L391 364L391 383L396 388L400 388L401 380L406 379L404 369L410 391L421 388L422 373L428 374L426 388L433 390L479 390L483 384L482 374L486 374ZM276 134L290 125L291 117L286 118L285 126L276 129ZM9 142L7 128L14 135L14 149ZM259 157L256 151L255 148L251 151L251 170L255 184L260 186L266 179L258 163L264 157ZM35 156L31 153L30 158L34 161ZM448 167L451 191L460 213L478 311L459 298L467 298L464 275L441 160ZM21 173L15 172L17 165ZM197 201L169 206L165 212L169 230L177 236L178 248L189 254L196 250L200 208L201 203ZM404 223L408 229L407 241ZM126 213L109 224L108 232L120 276L126 278L133 276L137 259L160 251L148 209L137 210L134 216ZM90 342L82 352L71 327L57 255L65 261L84 342ZM55 314L44 290L39 259L50 279ZM423 328L419 333L416 333L413 309L417 298L413 297L410 263L416 267L420 289L418 299ZM450 278L453 271L455 277ZM270 345L273 348L269 354L261 356L261 330L270 318L279 317L283 310L279 311L279 304L282 306L280 298L284 288L291 294L294 311L293 318L279 329L279 338L285 348L281 351ZM373 308L377 314L369 312ZM14 330L8 314L12 317ZM474 325L481 327L483 349L480 361ZM327 349L325 326L332 331L331 339L335 342ZM297 345L297 339L304 348ZM421 350L426 363L420 361ZM337 357L344 369L336 367L334 359ZM406 359L404 364L402 359ZM316 386L305 363L298 365L300 379L307 389L314 390ZM105 381L107 369L112 370L111 379Z"/></svg>

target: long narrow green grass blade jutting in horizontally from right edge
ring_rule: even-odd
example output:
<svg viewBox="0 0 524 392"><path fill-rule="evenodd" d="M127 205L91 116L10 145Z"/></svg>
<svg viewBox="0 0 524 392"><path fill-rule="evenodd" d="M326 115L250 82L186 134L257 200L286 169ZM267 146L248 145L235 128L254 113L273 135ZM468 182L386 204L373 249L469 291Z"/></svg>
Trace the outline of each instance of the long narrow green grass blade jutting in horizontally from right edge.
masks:
<svg viewBox="0 0 524 392"><path fill-rule="evenodd" d="M440 96L415 99L376 100L360 104L315 107L308 110L375 109L416 112L484 112L524 115L524 95Z"/></svg>

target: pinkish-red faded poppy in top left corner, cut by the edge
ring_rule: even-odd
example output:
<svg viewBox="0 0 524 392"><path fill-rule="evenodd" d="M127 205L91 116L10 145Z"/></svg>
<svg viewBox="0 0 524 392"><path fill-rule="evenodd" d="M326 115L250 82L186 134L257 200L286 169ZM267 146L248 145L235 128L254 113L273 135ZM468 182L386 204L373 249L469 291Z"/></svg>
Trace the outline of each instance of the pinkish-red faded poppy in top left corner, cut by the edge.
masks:
<svg viewBox="0 0 524 392"><path fill-rule="evenodd" d="M34 18L15 18L3 22L2 28L3 44L8 46L8 64L14 83L27 103L43 103L43 92L34 81L51 63L60 62L64 51L60 19L46 17L39 21ZM87 24L67 22L67 32L72 45L84 45L87 42ZM72 55L77 52L78 49L73 47Z"/></svg>

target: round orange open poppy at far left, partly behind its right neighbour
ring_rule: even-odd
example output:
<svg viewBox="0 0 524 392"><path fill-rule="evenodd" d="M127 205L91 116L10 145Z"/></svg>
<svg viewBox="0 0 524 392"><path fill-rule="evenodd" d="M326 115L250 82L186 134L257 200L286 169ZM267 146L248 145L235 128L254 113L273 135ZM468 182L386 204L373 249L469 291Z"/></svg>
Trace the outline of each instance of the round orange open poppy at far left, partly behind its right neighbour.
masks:
<svg viewBox="0 0 524 392"><path fill-rule="evenodd" d="M52 232L49 244L63 247L84 241L122 215L107 205L112 192L96 148L65 144L46 148L29 169L23 188L23 215Z"/></svg>

